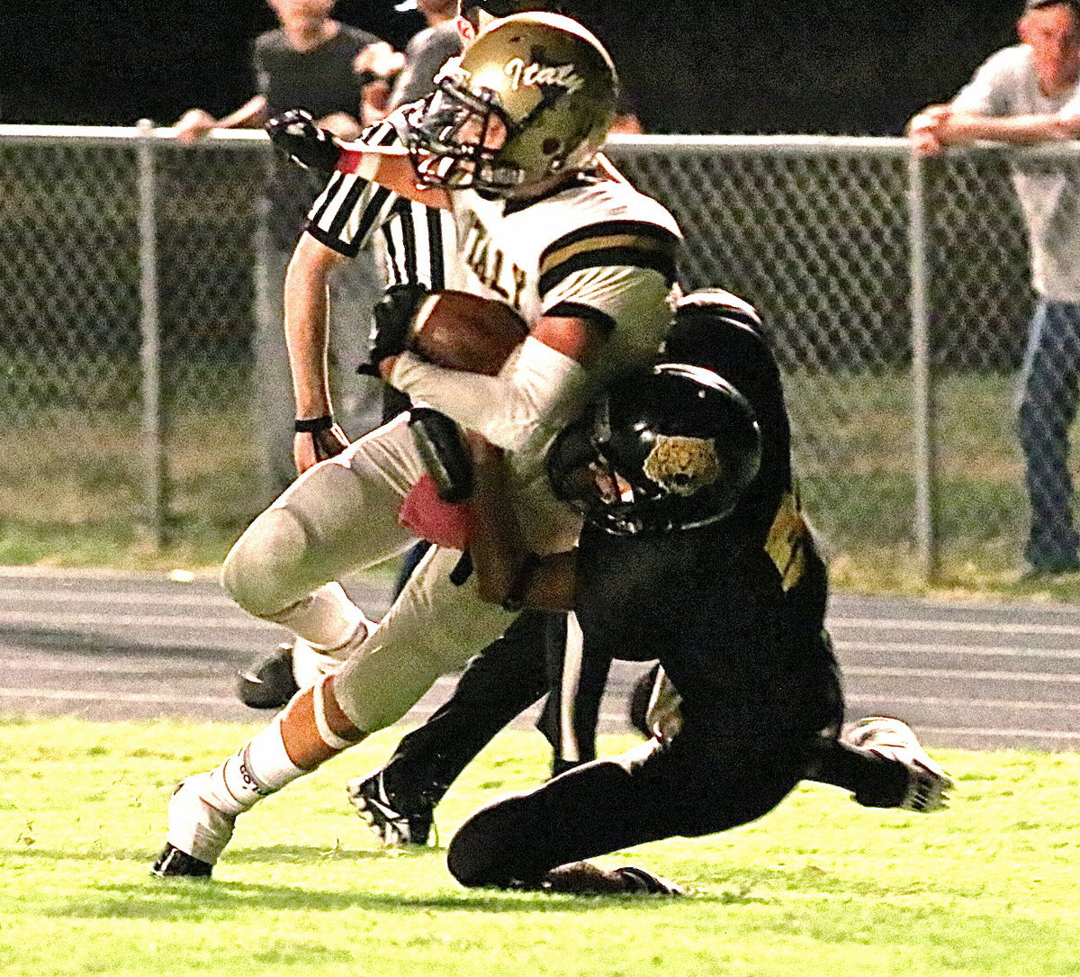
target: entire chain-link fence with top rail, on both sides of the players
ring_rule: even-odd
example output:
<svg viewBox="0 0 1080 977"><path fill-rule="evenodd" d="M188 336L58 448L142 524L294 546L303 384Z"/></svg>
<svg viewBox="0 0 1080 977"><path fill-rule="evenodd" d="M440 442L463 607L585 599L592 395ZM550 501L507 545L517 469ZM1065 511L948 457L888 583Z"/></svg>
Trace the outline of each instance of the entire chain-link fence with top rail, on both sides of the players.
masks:
<svg viewBox="0 0 1080 977"><path fill-rule="evenodd" d="M269 146L168 134L0 126L6 520L228 536L266 501L251 432ZM1039 152L1067 165L1071 147ZM903 139L807 136L618 137L611 155L683 227L685 284L764 313L834 566L1017 566L1032 297L1008 159L920 165Z"/></svg>

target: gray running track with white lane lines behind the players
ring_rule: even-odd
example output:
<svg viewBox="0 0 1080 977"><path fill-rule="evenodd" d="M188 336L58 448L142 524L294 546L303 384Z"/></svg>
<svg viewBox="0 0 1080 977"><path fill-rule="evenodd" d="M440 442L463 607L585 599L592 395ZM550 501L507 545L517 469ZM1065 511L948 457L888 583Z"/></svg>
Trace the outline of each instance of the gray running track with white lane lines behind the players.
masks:
<svg viewBox="0 0 1080 977"><path fill-rule="evenodd" d="M383 584L350 590L372 616L387 605ZM1080 749L1080 608L836 595L829 628L851 718L900 715L928 746ZM233 677L281 637L210 578L0 568L0 713L252 720ZM605 730L626 728L640 668L617 666Z"/></svg>

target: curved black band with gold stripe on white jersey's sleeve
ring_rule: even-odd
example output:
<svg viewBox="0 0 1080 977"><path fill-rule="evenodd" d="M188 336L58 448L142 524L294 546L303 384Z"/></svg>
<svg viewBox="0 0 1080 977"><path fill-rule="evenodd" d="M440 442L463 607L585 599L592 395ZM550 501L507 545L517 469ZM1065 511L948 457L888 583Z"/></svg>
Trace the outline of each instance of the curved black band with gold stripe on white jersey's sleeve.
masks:
<svg viewBox="0 0 1080 977"><path fill-rule="evenodd" d="M609 220L555 241L540 257L540 295L583 268L629 265L675 279L678 238L644 220Z"/></svg>

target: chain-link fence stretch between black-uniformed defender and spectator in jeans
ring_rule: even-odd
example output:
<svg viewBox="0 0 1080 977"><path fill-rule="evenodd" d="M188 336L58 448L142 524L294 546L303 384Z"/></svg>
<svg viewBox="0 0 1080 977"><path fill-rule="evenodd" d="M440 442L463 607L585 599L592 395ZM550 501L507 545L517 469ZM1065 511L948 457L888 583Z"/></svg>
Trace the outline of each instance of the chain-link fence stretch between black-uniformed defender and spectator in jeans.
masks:
<svg viewBox="0 0 1080 977"><path fill-rule="evenodd" d="M1075 147L1024 150L1074 166ZM905 139L615 147L687 235L687 284L764 313L833 566L976 579L1022 563L1014 386L1034 296L1009 157Z"/></svg>

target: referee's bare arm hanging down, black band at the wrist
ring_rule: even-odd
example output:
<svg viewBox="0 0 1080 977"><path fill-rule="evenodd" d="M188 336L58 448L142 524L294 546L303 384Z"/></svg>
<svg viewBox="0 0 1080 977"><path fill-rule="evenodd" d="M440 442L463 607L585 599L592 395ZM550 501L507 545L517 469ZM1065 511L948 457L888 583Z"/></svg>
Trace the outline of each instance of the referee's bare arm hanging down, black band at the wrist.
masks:
<svg viewBox="0 0 1080 977"><path fill-rule="evenodd" d="M285 344L298 421L329 418L334 413L326 361L328 281L330 272L347 260L311 235L303 233L288 264L285 276ZM347 444L345 433L336 426L297 431L293 440L297 471L307 471Z"/></svg>

